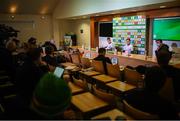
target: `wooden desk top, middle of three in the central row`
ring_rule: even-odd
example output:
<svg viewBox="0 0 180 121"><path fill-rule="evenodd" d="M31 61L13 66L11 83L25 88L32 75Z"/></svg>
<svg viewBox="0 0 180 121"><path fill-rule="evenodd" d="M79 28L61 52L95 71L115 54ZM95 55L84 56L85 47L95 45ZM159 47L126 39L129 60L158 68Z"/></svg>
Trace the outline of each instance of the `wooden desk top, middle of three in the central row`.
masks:
<svg viewBox="0 0 180 121"><path fill-rule="evenodd" d="M104 75L104 74L93 76L92 78L98 80L101 83L109 83L109 82L117 80L114 77L111 77L111 76L108 76L108 75Z"/></svg>

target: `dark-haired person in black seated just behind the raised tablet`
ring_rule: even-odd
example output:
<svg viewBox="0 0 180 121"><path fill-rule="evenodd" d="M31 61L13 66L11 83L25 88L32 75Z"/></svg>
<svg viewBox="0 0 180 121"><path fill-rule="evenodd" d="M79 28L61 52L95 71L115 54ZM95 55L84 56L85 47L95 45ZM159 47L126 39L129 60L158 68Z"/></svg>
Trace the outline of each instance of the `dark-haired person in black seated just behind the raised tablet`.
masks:
<svg viewBox="0 0 180 121"><path fill-rule="evenodd" d="M51 66L57 66L57 58L53 56L54 49L51 45L45 47L46 56L42 58L47 64Z"/></svg>

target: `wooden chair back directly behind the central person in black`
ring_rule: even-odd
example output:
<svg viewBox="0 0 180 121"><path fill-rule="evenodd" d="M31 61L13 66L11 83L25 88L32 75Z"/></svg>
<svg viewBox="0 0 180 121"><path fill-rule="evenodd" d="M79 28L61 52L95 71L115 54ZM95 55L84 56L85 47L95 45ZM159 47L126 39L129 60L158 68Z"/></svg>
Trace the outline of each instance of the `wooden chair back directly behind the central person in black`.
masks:
<svg viewBox="0 0 180 121"><path fill-rule="evenodd" d="M92 60L91 66L102 74L105 74L104 66L102 61Z"/></svg>

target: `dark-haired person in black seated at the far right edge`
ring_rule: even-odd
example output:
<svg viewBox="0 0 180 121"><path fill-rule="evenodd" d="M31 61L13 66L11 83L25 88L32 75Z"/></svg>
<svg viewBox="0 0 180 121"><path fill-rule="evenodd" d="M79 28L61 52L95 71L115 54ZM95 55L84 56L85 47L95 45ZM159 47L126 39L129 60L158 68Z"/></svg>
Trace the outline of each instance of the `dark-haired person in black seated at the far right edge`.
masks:
<svg viewBox="0 0 180 121"><path fill-rule="evenodd" d="M169 61L171 60L172 52L168 50L160 50L156 53L157 62L160 67L165 71L166 76L172 78L175 98L176 100L180 99L180 69L169 65Z"/></svg>

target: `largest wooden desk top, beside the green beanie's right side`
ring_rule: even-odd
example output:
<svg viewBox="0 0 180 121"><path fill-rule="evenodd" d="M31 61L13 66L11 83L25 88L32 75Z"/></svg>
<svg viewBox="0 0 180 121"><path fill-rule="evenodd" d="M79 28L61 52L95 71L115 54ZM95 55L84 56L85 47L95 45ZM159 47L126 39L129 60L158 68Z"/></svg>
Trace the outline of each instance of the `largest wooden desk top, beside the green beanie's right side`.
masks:
<svg viewBox="0 0 180 121"><path fill-rule="evenodd" d="M106 102L94 96L90 92L74 95L71 102L83 113L108 106Z"/></svg>

